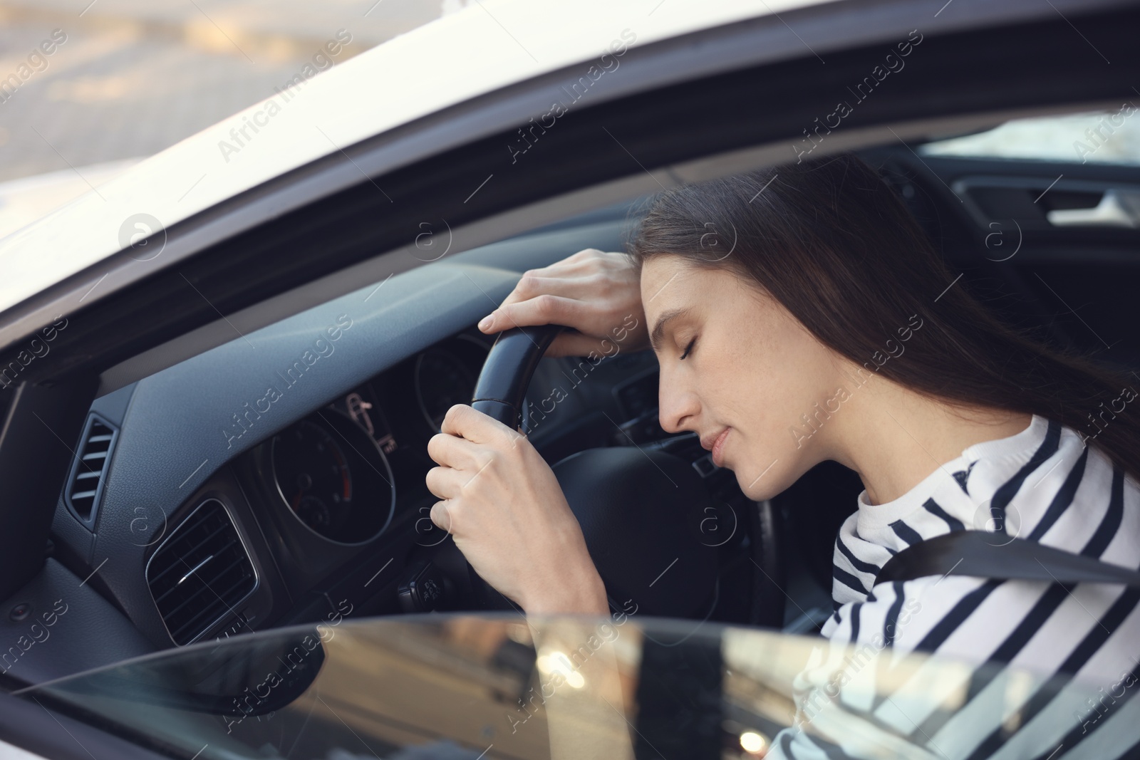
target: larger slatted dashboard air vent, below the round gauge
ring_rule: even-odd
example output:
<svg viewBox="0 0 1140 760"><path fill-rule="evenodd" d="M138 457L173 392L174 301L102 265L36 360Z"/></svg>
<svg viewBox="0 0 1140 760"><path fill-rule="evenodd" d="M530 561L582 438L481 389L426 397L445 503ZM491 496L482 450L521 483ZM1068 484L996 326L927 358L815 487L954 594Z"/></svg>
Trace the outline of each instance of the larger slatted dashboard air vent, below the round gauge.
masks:
<svg viewBox="0 0 1140 760"><path fill-rule="evenodd" d="M226 507L207 499L158 546L146 581L170 637L181 646L236 615L258 575Z"/></svg>

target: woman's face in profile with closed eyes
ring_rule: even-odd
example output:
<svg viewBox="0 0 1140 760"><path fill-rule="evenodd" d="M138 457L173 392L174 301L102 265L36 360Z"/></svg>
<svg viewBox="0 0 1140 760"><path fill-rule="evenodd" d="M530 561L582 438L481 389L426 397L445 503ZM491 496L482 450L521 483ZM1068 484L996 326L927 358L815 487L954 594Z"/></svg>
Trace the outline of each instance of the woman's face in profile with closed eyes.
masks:
<svg viewBox="0 0 1140 760"><path fill-rule="evenodd" d="M645 262L641 294L666 431L698 433L757 501L832 458L836 415L819 412L836 410L837 390L850 387L844 359L775 299L732 271L675 255Z"/></svg>

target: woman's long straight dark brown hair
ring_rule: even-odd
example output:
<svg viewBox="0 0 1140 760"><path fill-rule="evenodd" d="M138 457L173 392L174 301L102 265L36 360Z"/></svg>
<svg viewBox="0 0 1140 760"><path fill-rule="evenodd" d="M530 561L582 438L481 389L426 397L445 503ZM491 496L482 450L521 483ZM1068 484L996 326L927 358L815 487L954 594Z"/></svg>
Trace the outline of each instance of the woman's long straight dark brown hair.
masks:
<svg viewBox="0 0 1140 760"><path fill-rule="evenodd" d="M858 367L953 408L1041 415L1140 479L1140 403L1088 356L1000 321L943 264L895 191L853 155L774 166L654 196L628 251L751 278ZM922 320L898 360L870 363ZM1134 398L1134 391L1132 391Z"/></svg>

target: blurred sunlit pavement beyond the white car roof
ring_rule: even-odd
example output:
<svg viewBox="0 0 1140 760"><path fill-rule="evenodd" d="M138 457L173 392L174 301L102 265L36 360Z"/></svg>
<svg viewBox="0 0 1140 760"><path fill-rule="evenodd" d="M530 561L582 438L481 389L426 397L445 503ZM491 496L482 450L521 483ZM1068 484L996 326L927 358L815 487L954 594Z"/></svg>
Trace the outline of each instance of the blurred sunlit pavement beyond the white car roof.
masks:
<svg viewBox="0 0 1140 760"><path fill-rule="evenodd" d="M470 1L0 0L0 237Z"/></svg>

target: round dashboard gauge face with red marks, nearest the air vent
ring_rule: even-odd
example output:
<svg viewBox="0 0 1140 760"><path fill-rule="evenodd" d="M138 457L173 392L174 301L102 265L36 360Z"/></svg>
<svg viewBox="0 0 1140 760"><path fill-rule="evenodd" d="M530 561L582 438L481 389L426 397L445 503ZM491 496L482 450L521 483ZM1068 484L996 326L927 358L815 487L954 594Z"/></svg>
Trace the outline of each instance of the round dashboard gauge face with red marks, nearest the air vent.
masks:
<svg viewBox="0 0 1140 760"><path fill-rule="evenodd" d="M352 507L352 471L328 431L302 422L274 438L274 472L290 509L328 536Z"/></svg>

